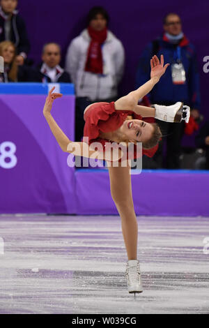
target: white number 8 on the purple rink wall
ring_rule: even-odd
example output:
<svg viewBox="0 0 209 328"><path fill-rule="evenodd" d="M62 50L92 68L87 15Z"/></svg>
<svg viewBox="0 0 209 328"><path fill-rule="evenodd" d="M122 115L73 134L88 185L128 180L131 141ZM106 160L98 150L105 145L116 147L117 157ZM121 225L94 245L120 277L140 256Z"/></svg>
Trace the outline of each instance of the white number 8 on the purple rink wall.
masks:
<svg viewBox="0 0 209 328"><path fill-rule="evenodd" d="M13 142L5 141L0 144L0 167L3 169L11 169L17 165L15 151L16 146Z"/></svg>

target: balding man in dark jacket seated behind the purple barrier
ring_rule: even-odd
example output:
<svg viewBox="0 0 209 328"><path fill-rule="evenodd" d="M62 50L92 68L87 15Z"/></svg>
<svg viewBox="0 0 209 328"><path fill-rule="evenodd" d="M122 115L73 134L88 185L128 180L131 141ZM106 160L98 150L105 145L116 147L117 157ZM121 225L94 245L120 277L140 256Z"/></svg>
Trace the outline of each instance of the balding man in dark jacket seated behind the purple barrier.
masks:
<svg viewBox="0 0 209 328"><path fill-rule="evenodd" d="M42 64L34 69L33 82L70 83L70 75L59 66L61 47L57 43L47 43L42 48Z"/></svg>

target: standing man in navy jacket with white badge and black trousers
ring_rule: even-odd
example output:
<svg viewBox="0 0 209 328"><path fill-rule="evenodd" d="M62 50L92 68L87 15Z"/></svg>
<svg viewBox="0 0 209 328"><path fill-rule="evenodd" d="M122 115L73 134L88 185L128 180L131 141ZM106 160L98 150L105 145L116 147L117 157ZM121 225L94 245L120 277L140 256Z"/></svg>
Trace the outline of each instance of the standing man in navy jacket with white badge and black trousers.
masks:
<svg viewBox="0 0 209 328"><path fill-rule="evenodd" d="M137 70L137 87L144 84L150 76L150 58L154 54L164 55L164 62L171 65L167 73L156 84L149 94L150 103L172 105L182 101L191 107L191 115L199 118L200 93L199 73L194 45L189 43L182 31L180 17L169 13L164 18L164 33L162 36L149 43L139 60ZM167 135L167 164L166 167L176 169L180 167L180 141L183 136L185 124L171 124L157 121L163 135ZM163 141L153 157L157 167L163 167Z"/></svg>

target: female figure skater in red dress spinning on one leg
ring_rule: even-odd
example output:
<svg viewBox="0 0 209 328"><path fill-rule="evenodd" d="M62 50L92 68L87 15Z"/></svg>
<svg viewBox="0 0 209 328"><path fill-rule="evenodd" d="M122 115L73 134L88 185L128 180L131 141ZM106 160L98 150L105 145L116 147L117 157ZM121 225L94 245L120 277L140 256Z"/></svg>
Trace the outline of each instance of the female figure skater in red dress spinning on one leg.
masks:
<svg viewBox="0 0 209 328"><path fill-rule="evenodd" d="M137 260L138 225L132 200L130 165L126 156L123 158L123 151L119 149L117 158L119 161L118 165L115 166L114 161L116 159L113 156L112 149L107 151L107 142L129 141L134 142L134 144L142 142L144 154L147 151L148 156L153 156L157 142L162 135L156 124L145 123L141 120L141 117L155 117L170 122L180 122L182 119L188 121L189 119L189 107L183 106L183 103L180 102L171 106L154 105L154 107L144 107L138 105L139 99L153 89L169 66L169 64L164 66L163 56L161 56L161 61L154 56L150 60L150 65L150 80L139 89L119 98L115 103L94 103L86 107L84 111L84 119L86 120L84 136L88 137L88 144L86 142L70 141L54 121L50 113L52 103L54 99L62 96L57 93L53 94L54 88L49 91L43 109L45 119L47 119L52 133L63 151L76 156L104 159L109 163L111 197L121 217L123 239L127 251L127 288L128 292L134 293L142 292L142 285L139 260ZM129 115L132 115L134 119L130 119ZM102 149L100 147L97 151L92 149L91 143L93 141L99 141L102 144Z"/></svg>

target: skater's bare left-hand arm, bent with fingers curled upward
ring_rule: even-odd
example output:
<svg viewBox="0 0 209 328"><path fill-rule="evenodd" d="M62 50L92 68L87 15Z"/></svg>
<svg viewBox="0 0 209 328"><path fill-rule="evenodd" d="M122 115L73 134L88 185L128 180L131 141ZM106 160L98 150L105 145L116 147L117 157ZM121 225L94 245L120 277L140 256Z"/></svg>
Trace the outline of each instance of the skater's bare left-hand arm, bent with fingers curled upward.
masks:
<svg viewBox="0 0 209 328"><path fill-rule="evenodd" d="M43 108L43 114L47 123L49 124L49 128L51 129L56 141L59 143L59 146L63 151L71 153L75 156L84 156L88 158L98 158L106 161L118 161L119 158L123 156L123 151L118 149L118 158L113 157L112 149L110 151L95 151L91 146L88 146L86 142L74 142L71 141L65 133L61 130L59 125L56 123L54 118L52 117L51 110L52 104L56 98L61 98L62 94L52 93L54 91L54 87L49 91L49 94L45 101L45 106Z"/></svg>

